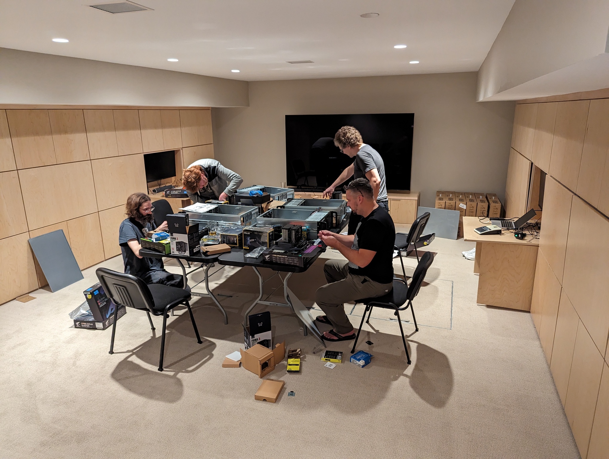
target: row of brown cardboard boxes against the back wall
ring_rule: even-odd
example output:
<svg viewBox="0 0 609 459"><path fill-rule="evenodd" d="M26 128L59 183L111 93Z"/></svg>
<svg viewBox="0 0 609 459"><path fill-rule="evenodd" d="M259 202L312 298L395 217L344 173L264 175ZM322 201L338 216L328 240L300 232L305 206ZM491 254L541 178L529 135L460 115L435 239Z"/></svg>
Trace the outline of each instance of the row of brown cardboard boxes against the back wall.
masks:
<svg viewBox="0 0 609 459"><path fill-rule="evenodd" d="M436 191L435 208L459 211L459 232L463 237L463 217L501 216L501 201L496 194L474 193L472 191Z"/></svg>

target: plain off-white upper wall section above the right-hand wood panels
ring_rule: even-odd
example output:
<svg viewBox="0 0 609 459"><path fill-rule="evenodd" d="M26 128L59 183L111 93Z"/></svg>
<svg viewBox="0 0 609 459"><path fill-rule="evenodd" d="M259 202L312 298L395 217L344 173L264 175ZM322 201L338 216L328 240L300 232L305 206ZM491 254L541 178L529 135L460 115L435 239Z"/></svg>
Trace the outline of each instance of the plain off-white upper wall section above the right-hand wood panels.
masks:
<svg viewBox="0 0 609 459"><path fill-rule="evenodd" d="M479 69L477 100L604 53L608 27L607 0L516 0ZM571 92L604 87L597 80L606 76L607 67L600 67L598 75L591 74L590 68L578 73L570 80ZM562 87L552 88L552 80L546 79L535 88L537 93L529 88L527 96L560 94L565 76L556 77L562 77ZM591 87L595 82L601 86ZM520 94L513 93L512 100L518 99Z"/></svg>

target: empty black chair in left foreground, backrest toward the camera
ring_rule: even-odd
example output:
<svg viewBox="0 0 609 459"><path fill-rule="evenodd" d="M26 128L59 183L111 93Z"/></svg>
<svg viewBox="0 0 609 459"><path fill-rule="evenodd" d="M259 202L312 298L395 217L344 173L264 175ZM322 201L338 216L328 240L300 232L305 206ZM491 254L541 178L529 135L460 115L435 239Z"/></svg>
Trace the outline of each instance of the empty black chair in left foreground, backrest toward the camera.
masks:
<svg viewBox="0 0 609 459"><path fill-rule="evenodd" d="M123 274L122 272L112 271L107 268L97 268L95 271L97 279L104 287L104 291L110 299L117 305L114 310L114 324L112 324L112 338L110 340L110 354L114 354L114 333L116 332L116 321L118 316L118 307L127 306L141 311L146 311L150 328L154 330L152 318L150 314L155 316L163 316L163 335L161 337L161 356L158 361L158 371L163 371L163 355L165 350L165 329L167 326L167 312L175 308L177 305L184 304L188 308L188 313L191 316L192 328L194 334L197 335L197 343L202 344L197 324L195 324L194 316L188 300L191 299L191 294L181 288L162 285L160 283L152 283L146 285L139 277Z"/></svg>

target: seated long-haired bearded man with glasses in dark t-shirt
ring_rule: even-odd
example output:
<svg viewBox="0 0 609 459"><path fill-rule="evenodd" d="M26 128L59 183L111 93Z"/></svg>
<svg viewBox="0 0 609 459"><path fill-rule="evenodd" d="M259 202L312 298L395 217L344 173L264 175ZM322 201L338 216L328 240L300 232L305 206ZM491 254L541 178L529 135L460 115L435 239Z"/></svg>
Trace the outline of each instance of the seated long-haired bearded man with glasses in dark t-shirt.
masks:
<svg viewBox="0 0 609 459"><path fill-rule="evenodd" d="M152 216L154 207L152 207L150 197L144 193L133 193L127 198L125 208L127 218L121 222L118 235L125 273L139 277L146 283L163 283L183 288L182 276L165 271L161 258L142 257L139 254L139 249L142 248L141 238L146 237L145 233L155 229ZM166 231L167 222L164 221L157 229Z"/></svg>

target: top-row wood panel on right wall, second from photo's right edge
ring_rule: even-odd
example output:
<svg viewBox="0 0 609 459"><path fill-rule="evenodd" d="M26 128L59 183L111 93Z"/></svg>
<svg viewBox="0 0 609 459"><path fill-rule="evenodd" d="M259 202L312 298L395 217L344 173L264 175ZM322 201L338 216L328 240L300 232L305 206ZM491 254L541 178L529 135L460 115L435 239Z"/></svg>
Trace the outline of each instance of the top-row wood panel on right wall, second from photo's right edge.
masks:
<svg viewBox="0 0 609 459"><path fill-rule="evenodd" d="M549 173L569 190L577 190L589 107L590 101L558 102Z"/></svg>

